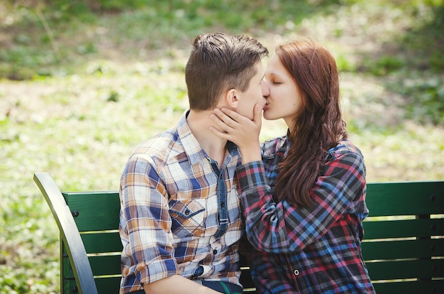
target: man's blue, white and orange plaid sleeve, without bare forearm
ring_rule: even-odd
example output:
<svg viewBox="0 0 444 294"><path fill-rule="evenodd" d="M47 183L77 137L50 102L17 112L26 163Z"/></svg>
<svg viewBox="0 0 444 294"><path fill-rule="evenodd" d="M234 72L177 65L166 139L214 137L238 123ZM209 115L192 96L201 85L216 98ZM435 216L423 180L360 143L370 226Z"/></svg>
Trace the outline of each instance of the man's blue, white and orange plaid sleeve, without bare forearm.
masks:
<svg viewBox="0 0 444 294"><path fill-rule="evenodd" d="M121 225L128 234L124 251L133 258L133 273L140 283L179 273L166 188L148 156L133 156L123 171Z"/></svg>

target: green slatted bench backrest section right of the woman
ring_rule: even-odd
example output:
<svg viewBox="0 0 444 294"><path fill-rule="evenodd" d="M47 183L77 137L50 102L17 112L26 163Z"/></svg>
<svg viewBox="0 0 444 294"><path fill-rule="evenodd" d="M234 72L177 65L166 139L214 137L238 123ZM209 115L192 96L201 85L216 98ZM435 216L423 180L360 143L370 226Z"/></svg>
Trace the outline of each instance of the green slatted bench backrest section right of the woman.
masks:
<svg viewBox="0 0 444 294"><path fill-rule="evenodd" d="M377 293L444 293L444 181L367 184L362 255Z"/></svg>

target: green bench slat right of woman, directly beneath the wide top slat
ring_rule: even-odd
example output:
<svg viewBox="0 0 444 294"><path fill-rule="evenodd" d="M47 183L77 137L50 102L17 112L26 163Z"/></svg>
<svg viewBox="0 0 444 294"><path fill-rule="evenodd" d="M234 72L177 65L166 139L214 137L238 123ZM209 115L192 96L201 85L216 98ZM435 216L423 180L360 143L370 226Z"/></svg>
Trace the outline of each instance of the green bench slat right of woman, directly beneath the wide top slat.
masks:
<svg viewBox="0 0 444 294"><path fill-rule="evenodd" d="M364 221L364 239L444 236L444 219Z"/></svg>

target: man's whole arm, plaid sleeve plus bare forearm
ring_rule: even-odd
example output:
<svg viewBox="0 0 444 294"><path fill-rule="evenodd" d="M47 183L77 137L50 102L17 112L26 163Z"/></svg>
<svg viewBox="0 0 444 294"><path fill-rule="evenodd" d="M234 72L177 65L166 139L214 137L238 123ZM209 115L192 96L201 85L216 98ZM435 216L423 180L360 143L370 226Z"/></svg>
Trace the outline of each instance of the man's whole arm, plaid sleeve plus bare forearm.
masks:
<svg viewBox="0 0 444 294"><path fill-rule="evenodd" d="M140 276L145 293L218 293L177 274L174 257L169 251L172 237L168 233L170 214L164 210L168 207L163 196L166 187L157 173L152 171L155 170L154 166L151 158L134 157L127 163L121 181L123 225L125 231L129 232L128 246L138 268L135 274ZM166 258L167 255L170 258ZM159 266L151 266L148 271L153 263Z"/></svg>

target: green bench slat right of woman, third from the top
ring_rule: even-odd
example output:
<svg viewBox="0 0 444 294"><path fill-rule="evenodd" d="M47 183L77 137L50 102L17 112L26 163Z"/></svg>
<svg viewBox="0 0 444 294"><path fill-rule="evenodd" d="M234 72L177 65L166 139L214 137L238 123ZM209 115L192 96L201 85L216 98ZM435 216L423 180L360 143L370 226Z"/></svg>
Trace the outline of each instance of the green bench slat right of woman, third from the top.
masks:
<svg viewBox="0 0 444 294"><path fill-rule="evenodd" d="M444 239L362 242L365 261L444 256Z"/></svg>

